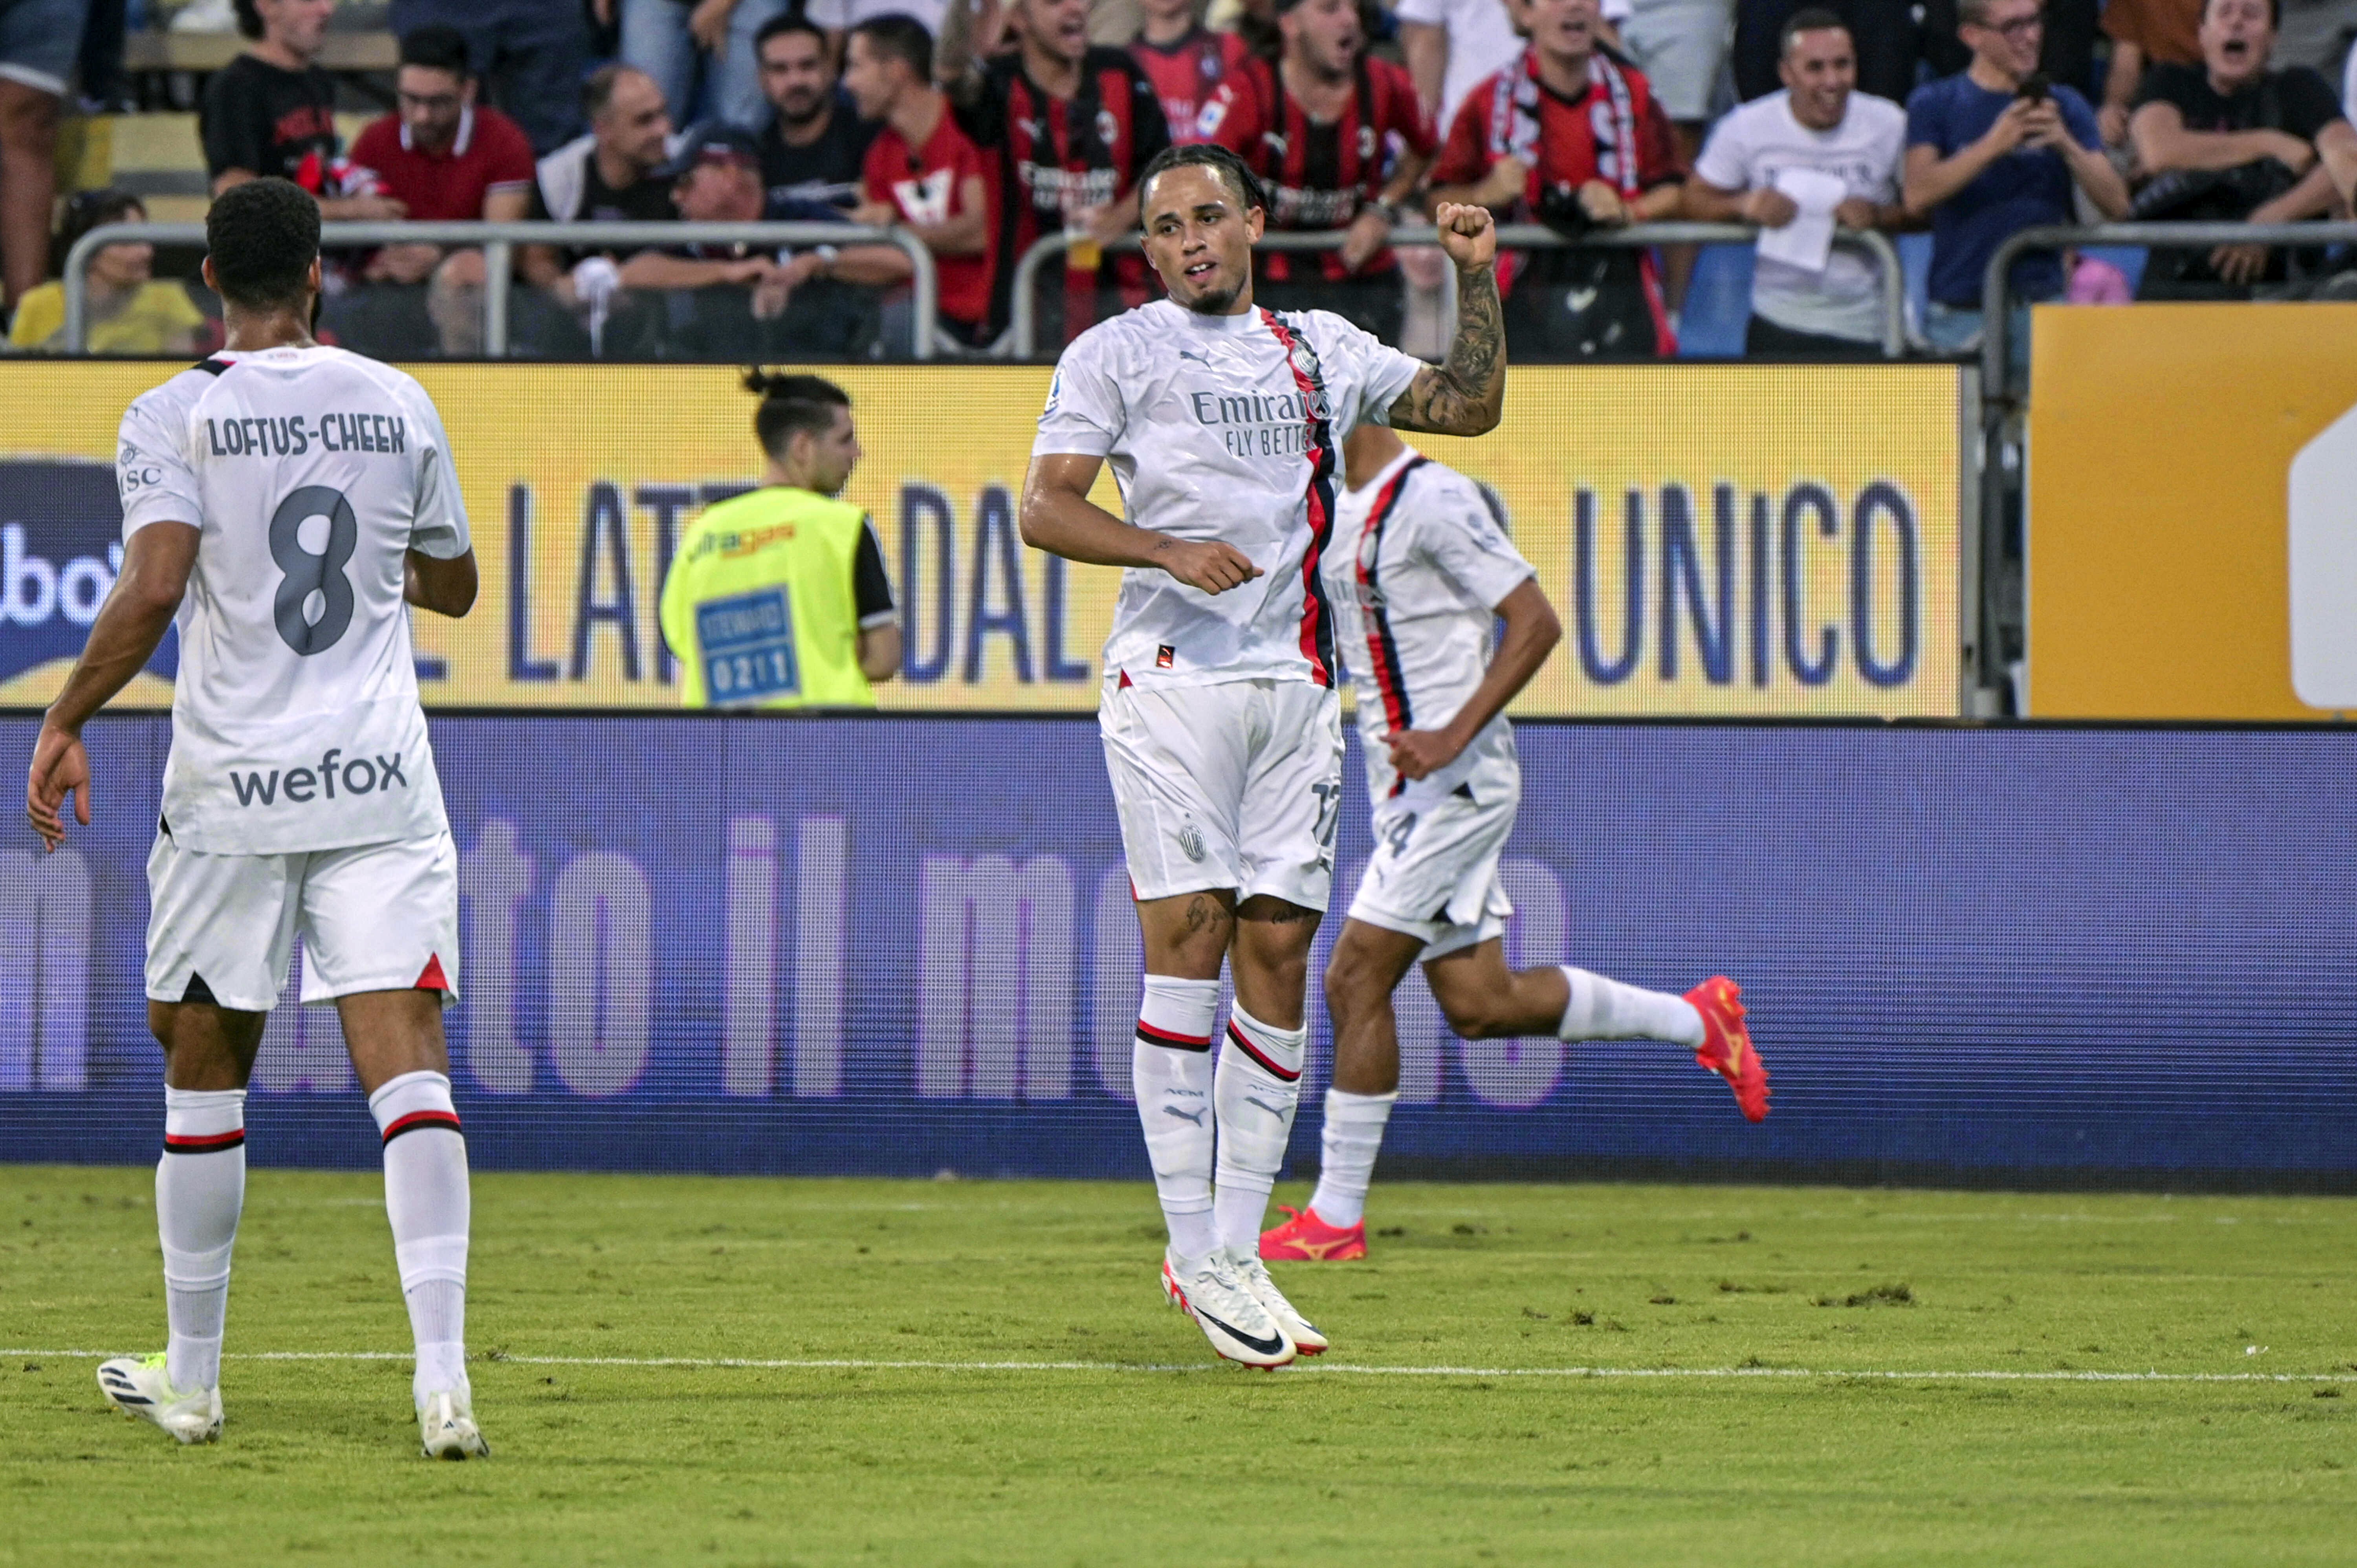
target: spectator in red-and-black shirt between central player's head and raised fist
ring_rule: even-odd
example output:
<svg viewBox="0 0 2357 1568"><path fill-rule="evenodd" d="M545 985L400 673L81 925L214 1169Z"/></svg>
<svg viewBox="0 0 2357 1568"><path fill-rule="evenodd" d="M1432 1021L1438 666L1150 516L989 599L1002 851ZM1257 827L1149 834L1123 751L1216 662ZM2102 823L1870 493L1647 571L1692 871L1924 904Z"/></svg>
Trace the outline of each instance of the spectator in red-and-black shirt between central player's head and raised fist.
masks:
<svg viewBox="0 0 2357 1568"><path fill-rule="evenodd" d="M1433 160L1407 71L1367 57L1358 0L1277 0L1277 64L1252 59L1211 94L1202 132L1268 186L1268 229L1341 229L1341 250L1261 252L1261 304L1325 309L1400 342L1405 295L1388 238Z"/></svg>

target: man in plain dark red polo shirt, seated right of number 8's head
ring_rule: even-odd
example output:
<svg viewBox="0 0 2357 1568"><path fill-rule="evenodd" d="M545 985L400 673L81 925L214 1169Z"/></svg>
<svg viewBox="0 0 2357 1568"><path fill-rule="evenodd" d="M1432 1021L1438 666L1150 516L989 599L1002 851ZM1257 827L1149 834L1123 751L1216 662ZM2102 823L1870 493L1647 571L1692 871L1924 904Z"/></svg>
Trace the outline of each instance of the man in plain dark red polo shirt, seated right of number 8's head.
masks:
<svg viewBox="0 0 2357 1568"><path fill-rule="evenodd" d="M514 224L533 203L533 144L497 108L476 104L467 35L427 26L401 40L398 113L372 120L351 144L351 182L398 200L412 222ZM379 330L417 332L443 354L483 351L483 252L387 245L361 266L361 290L332 302L344 347L415 354L424 344L372 342ZM431 281L431 288L422 288Z"/></svg>

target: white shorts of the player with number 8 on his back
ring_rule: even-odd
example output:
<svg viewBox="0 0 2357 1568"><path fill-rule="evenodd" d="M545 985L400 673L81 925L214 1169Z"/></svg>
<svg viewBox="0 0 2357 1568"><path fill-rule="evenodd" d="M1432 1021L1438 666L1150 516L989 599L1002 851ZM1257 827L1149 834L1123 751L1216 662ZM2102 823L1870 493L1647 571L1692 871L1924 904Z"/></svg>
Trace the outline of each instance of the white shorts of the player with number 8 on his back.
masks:
<svg viewBox="0 0 2357 1568"><path fill-rule="evenodd" d="M427 990L457 1002L457 846L448 832L283 856L148 849L148 997L269 1012L302 936L302 1000Z"/></svg>

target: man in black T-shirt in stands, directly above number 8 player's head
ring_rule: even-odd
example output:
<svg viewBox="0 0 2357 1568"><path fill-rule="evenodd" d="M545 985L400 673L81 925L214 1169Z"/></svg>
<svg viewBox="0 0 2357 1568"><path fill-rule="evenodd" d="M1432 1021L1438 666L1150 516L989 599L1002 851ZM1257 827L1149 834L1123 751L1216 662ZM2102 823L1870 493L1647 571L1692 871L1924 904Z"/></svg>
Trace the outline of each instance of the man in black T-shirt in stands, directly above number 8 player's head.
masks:
<svg viewBox="0 0 2357 1568"><path fill-rule="evenodd" d="M318 68L335 0L236 0L238 33L255 40L212 73L198 108L198 139L212 193L278 174L318 198L325 219L375 222L405 207L368 191L346 193L337 158L335 78Z"/></svg>

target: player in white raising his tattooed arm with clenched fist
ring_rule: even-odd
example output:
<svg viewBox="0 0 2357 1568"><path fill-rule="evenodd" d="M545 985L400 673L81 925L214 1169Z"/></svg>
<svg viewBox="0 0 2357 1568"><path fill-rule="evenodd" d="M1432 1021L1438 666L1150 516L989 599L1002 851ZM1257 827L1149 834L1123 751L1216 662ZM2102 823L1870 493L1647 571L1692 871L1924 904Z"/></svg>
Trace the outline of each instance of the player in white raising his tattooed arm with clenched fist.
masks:
<svg viewBox="0 0 2357 1568"><path fill-rule="evenodd" d="M1263 210L1235 153L1169 149L1138 191L1169 299L1065 349L1023 538L1127 568L1098 724L1146 938L1131 1082L1169 1221L1162 1287L1221 1356L1266 1368L1327 1344L1268 1278L1259 1233L1301 1096L1308 950L1341 806L1318 571L1339 448L1360 424L1497 424L1497 231L1480 207L1435 217L1459 330L1433 368L1339 316L1252 304ZM1089 502L1108 460L1127 519ZM1223 960L1235 1007L1214 1068Z"/></svg>

